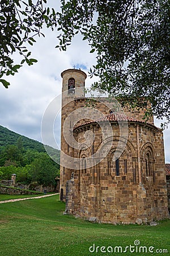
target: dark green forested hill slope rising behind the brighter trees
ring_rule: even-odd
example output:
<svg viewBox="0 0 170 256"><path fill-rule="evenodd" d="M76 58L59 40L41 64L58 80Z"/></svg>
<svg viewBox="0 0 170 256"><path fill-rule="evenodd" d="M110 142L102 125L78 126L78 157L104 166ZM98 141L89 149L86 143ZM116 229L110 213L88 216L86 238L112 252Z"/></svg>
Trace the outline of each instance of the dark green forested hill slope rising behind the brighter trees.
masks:
<svg viewBox="0 0 170 256"><path fill-rule="evenodd" d="M15 133L14 131L10 131L7 128L0 125L0 147L7 146L8 144L16 145L19 137L22 138L23 147L25 150L36 150L38 152L46 152L43 144L39 141L35 141L34 139L29 139L23 135ZM59 159L60 151L56 148L48 146L50 154L55 155L57 159Z"/></svg>

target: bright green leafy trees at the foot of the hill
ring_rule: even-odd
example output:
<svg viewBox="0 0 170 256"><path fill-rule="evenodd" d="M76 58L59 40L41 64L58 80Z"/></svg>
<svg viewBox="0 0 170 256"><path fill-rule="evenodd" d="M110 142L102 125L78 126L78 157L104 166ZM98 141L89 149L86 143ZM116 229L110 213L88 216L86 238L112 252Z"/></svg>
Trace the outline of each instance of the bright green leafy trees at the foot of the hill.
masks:
<svg viewBox="0 0 170 256"><path fill-rule="evenodd" d="M1 173L3 180L10 180L11 175L16 174L16 182L30 184L36 182L41 185L52 185L55 177L59 175L59 165L55 163L45 152L23 151L21 159L15 145L6 146L0 151Z"/></svg>

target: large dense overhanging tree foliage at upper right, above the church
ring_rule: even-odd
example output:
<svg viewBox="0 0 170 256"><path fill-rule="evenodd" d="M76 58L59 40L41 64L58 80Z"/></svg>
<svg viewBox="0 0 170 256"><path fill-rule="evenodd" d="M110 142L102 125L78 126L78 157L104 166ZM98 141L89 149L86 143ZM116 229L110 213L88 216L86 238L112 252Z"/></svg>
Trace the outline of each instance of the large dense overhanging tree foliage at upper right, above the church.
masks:
<svg viewBox="0 0 170 256"><path fill-rule="evenodd" d="M122 104L147 106L170 120L170 2L165 0L62 0L59 46L80 32L96 52L91 76ZM140 99L140 100L139 100ZM146 115L150 114L150 108Z"/></svg>

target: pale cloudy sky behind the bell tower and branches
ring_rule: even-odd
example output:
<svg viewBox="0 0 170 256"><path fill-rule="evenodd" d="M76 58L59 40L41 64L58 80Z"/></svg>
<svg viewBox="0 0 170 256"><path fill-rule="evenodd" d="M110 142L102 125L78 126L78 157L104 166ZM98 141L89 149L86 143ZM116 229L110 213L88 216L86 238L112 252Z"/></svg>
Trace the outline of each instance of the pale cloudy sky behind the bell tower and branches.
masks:
<svg viewBox="0 0 170 256"><path fill-rule="evenodd" d="M51 1L58 5L59 1ZM59 7L55 6L55 7ZM26 64L19 69L15 76L8 77L10 86L8 89L0 86L0 125L25 135L29 138L41 141L41 120L50 102L62 89L61 72L65 69L81 68L87 73L96 63L95 54L89 53L90 46L82 41L78 35L66 52L55 49L57 45L57 32L44 30L45 38L37 38L37 43L30 46L31 57L38 60L28 67ZM18 56L15 56L17 59ZM95 79L87 77L86 86ZM155 122L159 126L158 121ZM60 123L59 115L56 122L56 141L59 144ZM164 130L165 161L170 163L170 131Z"/></svg>

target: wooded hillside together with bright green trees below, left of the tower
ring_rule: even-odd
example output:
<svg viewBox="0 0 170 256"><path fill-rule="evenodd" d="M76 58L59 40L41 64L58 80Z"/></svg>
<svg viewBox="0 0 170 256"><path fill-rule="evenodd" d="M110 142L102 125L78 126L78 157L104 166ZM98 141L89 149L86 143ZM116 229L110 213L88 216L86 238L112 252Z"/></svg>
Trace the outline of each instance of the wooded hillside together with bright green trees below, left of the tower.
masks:
<svg viewBox="0 0 170 256"><path fill-rule="evenodd" d="M2 126L0 128L0 135L1 131L5 131L2 133L5 139L1 140L3 146L0 146L0 179L10 180L11 175L16 174L16 182L19 183L54 184L55 177L59 176L59 164L50 159L45 150L40 151L41 143L22 137L6 128L3 129ZM14 141L15 144L6 144L6 136L10 138L10 142ZM31 147L28 147L30 142ZM24 147L24 144L27 147ZM52 147L49 148L58 159L59 151Z"/></svg>

